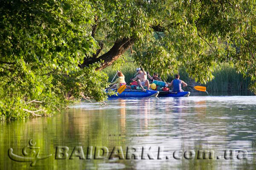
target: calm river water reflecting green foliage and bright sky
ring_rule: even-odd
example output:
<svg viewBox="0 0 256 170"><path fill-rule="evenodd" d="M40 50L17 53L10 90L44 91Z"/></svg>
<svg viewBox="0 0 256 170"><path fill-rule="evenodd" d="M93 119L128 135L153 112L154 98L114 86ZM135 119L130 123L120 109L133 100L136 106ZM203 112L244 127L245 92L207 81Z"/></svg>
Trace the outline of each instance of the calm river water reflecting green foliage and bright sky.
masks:
<svg viewBox="0 0 256 170"><path fill-rule="evenodd" d="M106 104L82 102L57 116L0 123L0 170L256 169L256 96L114 99ZM23 156L30 139L40 147L35 153L52 156L33 167L12 161L8 149ZM55 159L58 146L69 148L59 150L67 151L58 153L63 159ZM105 159L94 159L96 147L99 156L102 147L105 154L109 151ZM127 150L137 159L129 159ZM203 159L202 150L212 157Z"/></svg>

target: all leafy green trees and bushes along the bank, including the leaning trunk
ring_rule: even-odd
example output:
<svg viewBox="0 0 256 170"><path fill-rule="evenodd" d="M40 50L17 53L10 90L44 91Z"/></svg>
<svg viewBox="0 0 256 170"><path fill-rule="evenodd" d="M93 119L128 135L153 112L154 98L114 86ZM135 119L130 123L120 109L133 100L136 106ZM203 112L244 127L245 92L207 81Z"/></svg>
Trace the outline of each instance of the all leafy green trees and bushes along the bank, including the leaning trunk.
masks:
<svg viewBox="0 0 256 170"><path fill-rule="evenodd" d="M247 0L4 1L0 119L48 116L81 98L103 102L109 83L102 69L127 52L163 79L184 68L203 84L229 63L250 77L256 92L255 6Z"/></svg>

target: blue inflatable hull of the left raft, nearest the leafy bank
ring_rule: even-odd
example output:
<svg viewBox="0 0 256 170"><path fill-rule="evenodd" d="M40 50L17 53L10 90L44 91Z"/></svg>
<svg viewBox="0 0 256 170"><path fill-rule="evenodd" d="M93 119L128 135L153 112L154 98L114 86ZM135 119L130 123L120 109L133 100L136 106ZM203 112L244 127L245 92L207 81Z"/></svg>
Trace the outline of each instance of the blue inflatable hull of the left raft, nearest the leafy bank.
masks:
<svg viewBox="0 0 256 170"><path fill-rule="evenodd" d="M122 98L122 97L157 97L159 91L138 91L138 90L125 90L121 94L108 96L108 98Z"/></svg>

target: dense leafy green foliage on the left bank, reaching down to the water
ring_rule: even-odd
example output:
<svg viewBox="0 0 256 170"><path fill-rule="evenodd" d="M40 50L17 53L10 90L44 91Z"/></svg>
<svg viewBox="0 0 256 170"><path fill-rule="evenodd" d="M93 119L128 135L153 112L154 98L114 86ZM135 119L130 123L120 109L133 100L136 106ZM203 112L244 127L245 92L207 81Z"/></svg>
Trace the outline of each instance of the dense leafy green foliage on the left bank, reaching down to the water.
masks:
<svg viewBox="0 0 256 170"><path fill-rule="evenodd" d="M108 77L95 71L99 64L78 67L96 46L85 27L89 10L87 3L73 0L2 3L1 119L50 115L82 97L106 99Z"/></svg>

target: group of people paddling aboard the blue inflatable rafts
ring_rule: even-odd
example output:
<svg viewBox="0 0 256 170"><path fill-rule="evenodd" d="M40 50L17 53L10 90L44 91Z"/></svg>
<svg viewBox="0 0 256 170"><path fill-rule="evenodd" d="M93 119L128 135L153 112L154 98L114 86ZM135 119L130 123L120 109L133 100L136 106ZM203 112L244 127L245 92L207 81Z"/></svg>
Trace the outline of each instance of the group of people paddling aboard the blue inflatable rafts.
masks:
<svg viewBox="0 0 256 170"><path fill-rule="evenodd" d="M136 77L134 77L133 79L130 79L130 80L132 82L137 81L138 86L143 91L146 91L144 87L146 87L147 90L149 90L149 84L152 83L154 80L162 81L162 79L160 77L158 77L157 73L154 73L153 77L151 77L148 72L143 70L143 68L137 68L136 71L137 71ZM120 86L126 85L125 76L122 74L121 71L117 71L117 76L118 76L118 78L116 79L116 81L114 81L113 83L110 84L111 87L108 88L108 90L113 89L113 88L118 89ZM149 82L147 77L150 79L151 82ZM175 75L175 79L173 79L171 83L166 83L166 84L168 85L168 87L170 89L173 87L173 89L172 89L173 92L182 92L183 90L181 89L181 86L182 85L183 85L183 87L187 86L186 82L180 80L179 74ZM131 86L126 85L126 88L131 89Z"/></svg>

